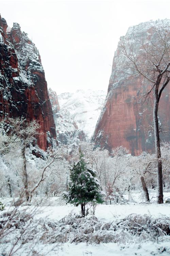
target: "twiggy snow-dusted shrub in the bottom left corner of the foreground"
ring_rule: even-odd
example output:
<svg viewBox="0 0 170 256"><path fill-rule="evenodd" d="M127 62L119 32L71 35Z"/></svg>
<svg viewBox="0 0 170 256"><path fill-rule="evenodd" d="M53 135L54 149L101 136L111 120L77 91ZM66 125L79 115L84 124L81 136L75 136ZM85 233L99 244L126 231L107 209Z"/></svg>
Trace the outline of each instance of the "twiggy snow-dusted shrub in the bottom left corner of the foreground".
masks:
<svg viewBox="0 0 170 256"><path fill-rule="evenodd" d="M0 249L5 250L5 255L16 255L18 248L30 241L33 249L39 235L44 232L43 224L34 220L36 209L18 209L14 207L0 215Z"/></svg>

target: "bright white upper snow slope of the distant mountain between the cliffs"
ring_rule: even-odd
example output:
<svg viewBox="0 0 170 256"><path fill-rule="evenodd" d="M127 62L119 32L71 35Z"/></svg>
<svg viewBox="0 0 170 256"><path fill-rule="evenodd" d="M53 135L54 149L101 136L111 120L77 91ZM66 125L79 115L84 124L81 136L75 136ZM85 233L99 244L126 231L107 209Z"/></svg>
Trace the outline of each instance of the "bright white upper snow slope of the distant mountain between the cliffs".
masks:
<svg viewBox="0 0 170 256"><path fill-rule="evenodd" d="M97 90L77 90L75 93L63 93L58 96L61 115L72 119L78 129L90 138L103 108L106 92ZM57 127L58 129L58 127Z"/></svg>

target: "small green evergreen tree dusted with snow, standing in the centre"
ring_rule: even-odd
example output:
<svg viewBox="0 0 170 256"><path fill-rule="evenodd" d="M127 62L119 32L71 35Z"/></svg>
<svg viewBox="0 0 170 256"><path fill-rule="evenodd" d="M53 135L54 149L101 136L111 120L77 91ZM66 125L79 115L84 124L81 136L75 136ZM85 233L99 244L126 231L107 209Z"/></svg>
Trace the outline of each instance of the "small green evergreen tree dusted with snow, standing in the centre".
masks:
<svg viewBox="0 0 170 256"><path fill-rule="evenodd" d="M80 152L80 160L74 163L70 169L69 191L64 193L64 198L68 203L78 206L81 204L81 213L85 216L85 205L89 202L92 205L103 203L104 193L101 191L99 180L96 178L97 172L87 167Z"/></svg>

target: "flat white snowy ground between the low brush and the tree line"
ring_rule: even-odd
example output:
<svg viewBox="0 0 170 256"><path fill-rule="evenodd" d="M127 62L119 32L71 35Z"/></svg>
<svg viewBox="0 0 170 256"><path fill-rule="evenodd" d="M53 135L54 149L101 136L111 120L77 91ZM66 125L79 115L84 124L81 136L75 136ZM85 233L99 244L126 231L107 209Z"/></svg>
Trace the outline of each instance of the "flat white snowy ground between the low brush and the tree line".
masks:
<svg viewBox="0 0 170 256"><path fill-rule="evenodd" d="M113 218L124 218L129 214L149 214L158 217L160 215L166 215L170 217L170 204L157 204L156 200L156 191L150 191L150 196L153 196L152 203L145 203L145 200L141 199L140 193L132 193L131 198L133 198L134 202L129 202L128 204L98 204L95 211L95 216L98 219L102 219L102 221L113 221ZM128 194L124 195L125 198L128 199ZM164 192L164 199L170 198L170 192ZM165 201L164 200L164 201ZM12 201L11 198L0 198L4 204L6 204L6 209L8 209L8 205ZM36 215L36 218L50 218L55 219L56 221L60 221L64 216L70 213L80 214L81 208L74 207L72 204L63 205L64 202L61 202L60 197L50 197L48 199L48 203L46 205L50 206L40 206L39 211ZM30 206L33 207L34 206ZM26 208L26 207L21 207ZM89 209L90 212L91 209Z"/></svg>

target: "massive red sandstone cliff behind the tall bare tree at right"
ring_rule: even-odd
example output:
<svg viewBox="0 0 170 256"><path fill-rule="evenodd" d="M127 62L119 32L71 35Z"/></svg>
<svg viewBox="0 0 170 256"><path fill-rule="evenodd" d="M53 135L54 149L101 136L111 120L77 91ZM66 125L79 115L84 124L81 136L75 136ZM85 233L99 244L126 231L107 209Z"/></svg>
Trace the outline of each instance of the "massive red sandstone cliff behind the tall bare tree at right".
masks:
<svg viewBox="0 0 170 256"><path fill-rule="evenodd" d="M170 22L166 20L165 22ZM141 33L152 33L157 22L141 23L130 27L125 35L138 38ZM154 151L152 132L153 99L142 104L142 95L150 89L150 85L142 77L133 76L131 71L122 69L123 54L120 43L113 59L112 74L109 81L108 93L104 108L98 119L94 141L97 146L111 151L114 147L124 146L133 155L142 151ZM164 130L170 127L170 85L164 90L159 103L159 122ZM169 141L170 133L160 134L162 140Z"/></svg>

